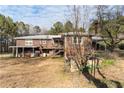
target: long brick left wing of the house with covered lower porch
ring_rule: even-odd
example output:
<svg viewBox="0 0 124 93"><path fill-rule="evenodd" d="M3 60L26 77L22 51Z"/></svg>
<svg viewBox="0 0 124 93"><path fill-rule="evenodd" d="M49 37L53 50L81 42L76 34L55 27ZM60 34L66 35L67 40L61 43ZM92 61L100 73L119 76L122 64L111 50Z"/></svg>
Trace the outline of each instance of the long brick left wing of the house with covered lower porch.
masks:
<svg viewBox="0 0 124 93"><path fill-rule="evenodd" d="M10 46L15 57L50 56L62 53L61 35L34 35L14 38L16 45Z"/></svg>

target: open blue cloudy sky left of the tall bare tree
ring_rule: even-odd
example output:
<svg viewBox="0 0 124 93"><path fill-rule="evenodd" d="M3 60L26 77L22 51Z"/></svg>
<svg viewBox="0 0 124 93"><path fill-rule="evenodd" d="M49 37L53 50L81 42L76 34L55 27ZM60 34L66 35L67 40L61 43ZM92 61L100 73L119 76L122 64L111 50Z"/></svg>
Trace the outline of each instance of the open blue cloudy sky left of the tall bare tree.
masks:
<svg viewBox="0 0 124 93"><path fill-rule="evenodd" d="M0 14L14 21L50 28L55 22L65 21L67 6L62 5L0 5Z"/></svg>

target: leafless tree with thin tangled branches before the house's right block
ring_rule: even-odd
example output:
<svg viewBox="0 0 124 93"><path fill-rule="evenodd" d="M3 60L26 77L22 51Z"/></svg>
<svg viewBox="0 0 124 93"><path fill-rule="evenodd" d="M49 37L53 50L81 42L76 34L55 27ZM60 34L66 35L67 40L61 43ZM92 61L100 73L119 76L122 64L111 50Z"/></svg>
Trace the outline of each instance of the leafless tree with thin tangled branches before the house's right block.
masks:
<svg viewBox="0 0 124 93"><path fill-rule="evenodd" d="M83 7L84 8L84 7ZM82 24L82 19L86 19L86 16L88 15L82 15L82 9L81 6L71 6L69 7L69 11L71 12L71 16L69 16L69 18L71 18L71 21L73 23L74 29L73 29L73 39L74 41L78 41L78 43L74 43L73 46L70 44L70 46L72 47L71 50L69 51L69 56L67 55L67 58L69 58L70 60L74 61L78 67L78 69L81 69L81 67L85 67L86 66L86 53L88 54L88 39L84 40L83 45L80 44L80 41L82 40L82 35L83 32L80 32L80 26ZM86 7L87 9L87 7ZM85 11L86 12L86 11ZM85 20L86 22L86 20ZM83 23L83 25L86 26L85 22ZM86 41L86 42L85 42ZM72 43L72 42L71 42ZM82 47L84 47L84 49L82 49ZM85 50L87 50L87 52L85 52ZM90 50L90 49L89 49Z"/></svg>

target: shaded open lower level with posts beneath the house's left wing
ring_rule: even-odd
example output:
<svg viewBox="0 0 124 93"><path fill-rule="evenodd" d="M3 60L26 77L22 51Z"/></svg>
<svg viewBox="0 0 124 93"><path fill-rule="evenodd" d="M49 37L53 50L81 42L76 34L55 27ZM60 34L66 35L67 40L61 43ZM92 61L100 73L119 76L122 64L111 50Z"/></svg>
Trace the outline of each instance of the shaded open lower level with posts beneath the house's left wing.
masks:
<svg viewBox="0 0 124 93"><path fill-rule="evenodd" d="M41 48L38 46L10 46L14 57L35 57L63 55L64 49L61 47Z"/></svg>

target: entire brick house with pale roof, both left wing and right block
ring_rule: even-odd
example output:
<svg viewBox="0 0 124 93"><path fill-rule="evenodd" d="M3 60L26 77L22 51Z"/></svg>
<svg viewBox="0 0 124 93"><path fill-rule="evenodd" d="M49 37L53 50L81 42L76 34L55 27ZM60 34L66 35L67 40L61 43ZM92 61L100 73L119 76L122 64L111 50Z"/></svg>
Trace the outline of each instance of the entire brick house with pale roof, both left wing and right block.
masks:
<svg viewBox="0 0 124 93"><path fill-rule="evenodd" d="M91 50L94 40L100 37L88 33L68 32L61 35L34 35L14 38L13 49L15 57L25 56L54 56L64 54L65 58L75 56L77 53L84 55ZM79 51L80 50L80 51Z"/></svg>

